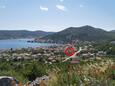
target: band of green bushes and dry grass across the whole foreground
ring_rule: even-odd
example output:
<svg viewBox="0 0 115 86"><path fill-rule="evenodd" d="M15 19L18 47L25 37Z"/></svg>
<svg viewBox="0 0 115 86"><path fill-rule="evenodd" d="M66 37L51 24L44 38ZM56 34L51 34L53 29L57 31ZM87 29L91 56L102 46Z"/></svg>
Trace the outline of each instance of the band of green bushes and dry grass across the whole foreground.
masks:
<svg viewBox="0 0 115 86"><path fill-rule="evenodd" d="M0 61L0 75L13 76L26 83L37 77L48 75L48 86L104 85L114 86L114 58L83 60L79 64L43 64L37 61Z"/></svg>

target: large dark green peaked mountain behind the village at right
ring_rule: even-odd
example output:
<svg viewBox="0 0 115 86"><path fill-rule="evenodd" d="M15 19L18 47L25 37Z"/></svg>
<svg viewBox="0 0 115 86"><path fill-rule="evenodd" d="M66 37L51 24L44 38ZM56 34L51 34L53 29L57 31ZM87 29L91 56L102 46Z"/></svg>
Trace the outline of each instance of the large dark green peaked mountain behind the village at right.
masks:
<svg viewBox="0 0 115 86"><path fill-rule="evenodd" d="M115 34L107 32L100 28L92 26L69 27L63 31L47 35L44 39L53 40L53 42L66 43L73 40L81 41L105 41L115 39Z"/></svg>

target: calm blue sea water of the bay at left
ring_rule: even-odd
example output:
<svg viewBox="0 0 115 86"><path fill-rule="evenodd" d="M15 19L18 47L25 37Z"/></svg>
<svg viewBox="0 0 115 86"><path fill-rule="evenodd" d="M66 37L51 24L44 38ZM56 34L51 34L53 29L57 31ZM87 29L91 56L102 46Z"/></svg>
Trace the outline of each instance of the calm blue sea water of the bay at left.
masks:
<svg viewBox="0 0 115 86"><path fill-rule="evenodd" d="M46 47L52 46L51 43L29 43L33 39L8 39L0 40L0 49L10 49L10 48L28 48L28 47Z"/></svg>

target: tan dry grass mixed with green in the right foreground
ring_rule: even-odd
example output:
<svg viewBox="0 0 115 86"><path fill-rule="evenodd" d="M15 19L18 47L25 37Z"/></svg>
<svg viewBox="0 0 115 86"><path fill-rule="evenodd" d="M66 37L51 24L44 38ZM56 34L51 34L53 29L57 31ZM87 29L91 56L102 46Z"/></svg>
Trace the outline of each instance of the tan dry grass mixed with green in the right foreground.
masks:
<svg viewBox="0 0 115 86"><path fill-rule="evenodd" d="M115 60L110 58L82 61L80 64L71 65L69 71L69 82L71 86L97 86L112 84L111 76L112 67L115 65ZM48 86L67 86L68 75L67 71L58 69L50 74ZM114 86L114 85L113 85Z"/></svg>

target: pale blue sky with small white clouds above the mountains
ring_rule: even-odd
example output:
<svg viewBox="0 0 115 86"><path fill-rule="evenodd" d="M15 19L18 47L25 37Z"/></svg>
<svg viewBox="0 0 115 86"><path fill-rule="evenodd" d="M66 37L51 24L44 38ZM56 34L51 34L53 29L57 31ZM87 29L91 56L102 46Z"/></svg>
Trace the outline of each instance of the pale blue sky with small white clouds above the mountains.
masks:
<svg viewBox="0 0 115 86"><path fill-rule="evenodd" d="M115 0L0 0L0 30L115 30Z"/></svg>

